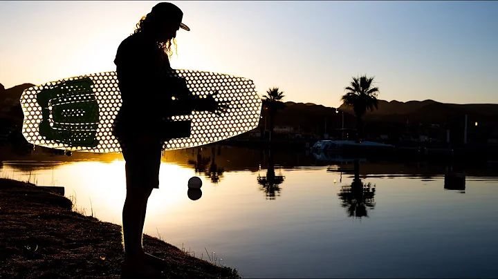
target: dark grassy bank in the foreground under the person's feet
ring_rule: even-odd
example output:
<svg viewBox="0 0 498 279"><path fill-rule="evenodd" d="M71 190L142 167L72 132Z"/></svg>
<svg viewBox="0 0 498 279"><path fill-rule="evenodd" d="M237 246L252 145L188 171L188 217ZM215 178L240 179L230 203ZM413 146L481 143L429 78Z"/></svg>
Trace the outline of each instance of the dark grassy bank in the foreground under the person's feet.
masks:
<svg viewBox="0 0 498 279"><path fill-rule="evenodd" d="M0 278L119 278L121 227L71 208L61 195L0 179ZM149 235L144 247L169 262L169 278L240 278Z"/></svg>

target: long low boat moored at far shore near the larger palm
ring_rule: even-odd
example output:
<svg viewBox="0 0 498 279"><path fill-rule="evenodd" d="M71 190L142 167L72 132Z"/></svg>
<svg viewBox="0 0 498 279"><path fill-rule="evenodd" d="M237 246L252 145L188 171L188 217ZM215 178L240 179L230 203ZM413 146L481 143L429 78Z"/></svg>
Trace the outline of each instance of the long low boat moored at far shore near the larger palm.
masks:
<svg viewBox="0 0 498 279"><path fill-rule="evenodd" d="M394 151L394 145L380 142L355 142L352 140L319 140L313 144L311 151L330 153L372 153Z"/></svg>

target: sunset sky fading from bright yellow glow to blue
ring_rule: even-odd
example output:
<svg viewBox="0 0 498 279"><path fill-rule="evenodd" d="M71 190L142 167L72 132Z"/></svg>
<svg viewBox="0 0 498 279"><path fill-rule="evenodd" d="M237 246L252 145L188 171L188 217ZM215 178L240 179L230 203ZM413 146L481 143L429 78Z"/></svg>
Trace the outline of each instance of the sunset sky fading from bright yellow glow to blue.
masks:
<svg viewBox="0 0 498 279"><path fill-rule="evenodd" d="M0 1L0 83L116 70L158 1ZM173 68L248 77L263 94L337 107L352 76L380 99L498 103L498 1L173 1Z"/></svg>

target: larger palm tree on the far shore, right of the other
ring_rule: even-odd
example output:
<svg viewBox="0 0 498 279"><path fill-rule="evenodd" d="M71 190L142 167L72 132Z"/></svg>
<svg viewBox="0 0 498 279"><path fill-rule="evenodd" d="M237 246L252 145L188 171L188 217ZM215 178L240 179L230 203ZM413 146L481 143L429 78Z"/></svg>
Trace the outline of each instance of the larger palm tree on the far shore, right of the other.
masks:
<svg viewBox="0 0 498 279"><path fill-rule="evenodd" d="M362 140L363 123L362 117L367 113L367 110L373 111L378 108L377 96L379 90L377 87L372 87L374 77L353 77L351 85L344 88L346 94L342 95L341 101L346 106L353 107L356 115L356 131L358 133L358 141Z"/></svg>

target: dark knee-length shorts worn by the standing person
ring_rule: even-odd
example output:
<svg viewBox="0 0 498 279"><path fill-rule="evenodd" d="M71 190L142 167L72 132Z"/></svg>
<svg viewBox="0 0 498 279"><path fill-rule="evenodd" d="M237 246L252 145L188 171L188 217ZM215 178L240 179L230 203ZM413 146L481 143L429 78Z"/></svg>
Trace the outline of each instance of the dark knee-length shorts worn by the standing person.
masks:
<svg viewBox="0 0 498 279"><path fill-rule="evenodd" d="M119 140L126 162L127 189L158 189L163 142L153 137Z"/></svg>

